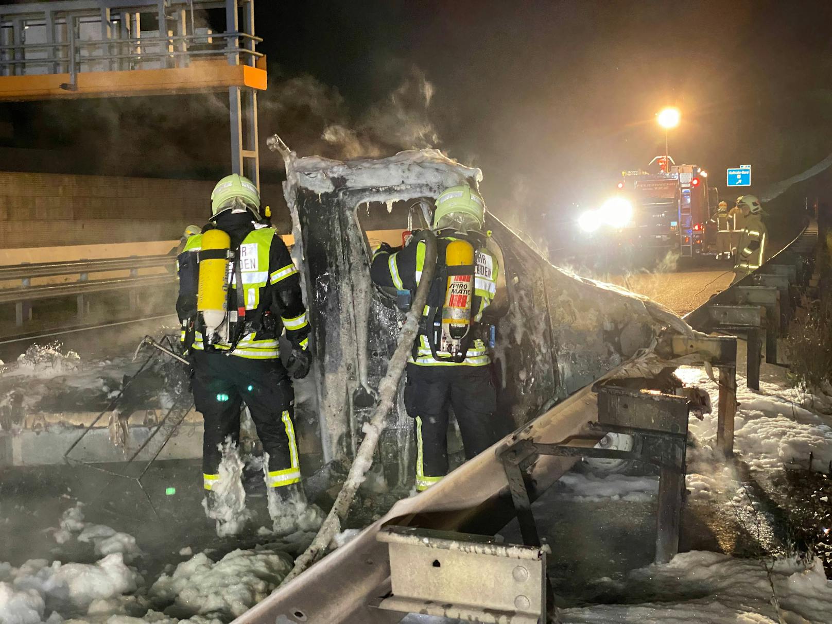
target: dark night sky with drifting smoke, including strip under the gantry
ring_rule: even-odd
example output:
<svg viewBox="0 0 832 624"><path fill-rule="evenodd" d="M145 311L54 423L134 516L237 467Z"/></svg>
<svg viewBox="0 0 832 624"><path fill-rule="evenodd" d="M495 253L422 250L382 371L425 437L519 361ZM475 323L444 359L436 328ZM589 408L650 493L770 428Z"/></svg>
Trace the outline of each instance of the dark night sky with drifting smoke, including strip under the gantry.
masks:
<svg viewBox="0 0 832 624"><path fill-rule="evenodd" d="M264 148L275 131L302 155L437 146L482 167L489 206L528 229L554 233L573 203L646 166L667 104L683 115L671 156L721 192L727 166L750 163L761 191L832 153L828 0L259 0L256 21ZM6 145L82 152L77 172L212 177L227 162L224 102L16 104L0 121L15 126ZM262 166L280 178L274 156Z"/></svg>

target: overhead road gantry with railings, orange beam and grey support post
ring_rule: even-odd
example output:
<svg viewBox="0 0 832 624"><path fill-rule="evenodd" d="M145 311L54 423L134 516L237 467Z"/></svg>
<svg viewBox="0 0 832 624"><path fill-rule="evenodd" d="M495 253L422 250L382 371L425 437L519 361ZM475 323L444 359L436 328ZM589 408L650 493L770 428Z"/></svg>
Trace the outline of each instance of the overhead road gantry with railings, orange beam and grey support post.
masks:
<svg viewBox="0 0 832 624"><path fill-rule="evenodd" d="M266 68L255 47L261 41L254 0L2 5L0 101L227 89L231 171L260 186L257 92L265 91Z"/></svg>

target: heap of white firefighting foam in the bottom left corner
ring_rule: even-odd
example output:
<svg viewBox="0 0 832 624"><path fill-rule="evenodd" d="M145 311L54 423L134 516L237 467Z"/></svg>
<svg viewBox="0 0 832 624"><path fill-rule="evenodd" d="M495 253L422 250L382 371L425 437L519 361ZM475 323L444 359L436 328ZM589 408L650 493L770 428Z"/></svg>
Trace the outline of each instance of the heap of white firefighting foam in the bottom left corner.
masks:
<svg viewBox="0 0 832 624"><path fill-rule="evenodd" d="M82 503L63 513L52 534L59 543L88 542L104 556L94 563L0 562L2 624L223 624L267 597L292 562L270 548L235 550L217 562L203 552L191 557L189 548L182 552L190 558L151 584L128 565L126 557L142 556L135 538L84 522Z"/></svg>

